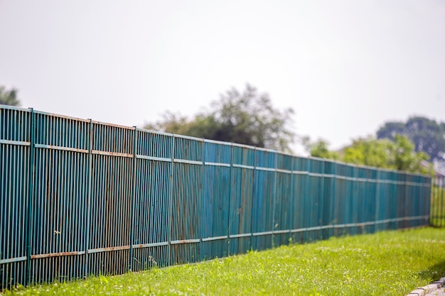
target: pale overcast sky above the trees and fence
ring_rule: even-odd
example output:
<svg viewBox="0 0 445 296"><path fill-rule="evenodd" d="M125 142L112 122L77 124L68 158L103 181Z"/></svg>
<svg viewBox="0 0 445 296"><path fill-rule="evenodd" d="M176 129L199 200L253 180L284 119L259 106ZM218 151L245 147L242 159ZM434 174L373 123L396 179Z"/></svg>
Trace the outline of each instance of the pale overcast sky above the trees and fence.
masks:
<svg viewBox="0 0 445 296"><path fill-rule="evenodd" d="M445 1L0 0L0 84L24 107L143 126L246 83L332 148L445 121Z"/></svg>

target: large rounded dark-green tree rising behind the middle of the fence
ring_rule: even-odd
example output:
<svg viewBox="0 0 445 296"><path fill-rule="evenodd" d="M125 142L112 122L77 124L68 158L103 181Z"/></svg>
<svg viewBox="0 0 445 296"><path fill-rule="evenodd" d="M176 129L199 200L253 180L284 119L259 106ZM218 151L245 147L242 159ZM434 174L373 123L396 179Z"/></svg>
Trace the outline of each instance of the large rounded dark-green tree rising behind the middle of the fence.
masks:
<svg viewBox="0 0 445 296"><path fill-rule="evenodd" d="M193 119L166 112L163 120L146 128L198 138L290 151L295 133L289 128L294 111L272 106L268 94L247 84L243 92L233 88Z"/></svg>

